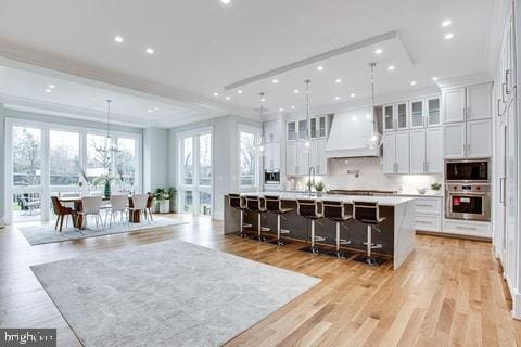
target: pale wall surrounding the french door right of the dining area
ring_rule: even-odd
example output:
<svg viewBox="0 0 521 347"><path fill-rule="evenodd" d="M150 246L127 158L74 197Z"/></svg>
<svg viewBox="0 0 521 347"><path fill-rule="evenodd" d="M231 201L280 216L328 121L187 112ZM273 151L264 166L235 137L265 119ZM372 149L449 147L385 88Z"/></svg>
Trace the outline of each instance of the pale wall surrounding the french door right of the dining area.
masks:
<svg viewBox="0 0 521 347"><path fill-rule="evenodd" d="M173 128L169 131L169 154L168 154L168 182L169 185L177 187L177 160L178 143L177 134L189 130L201 128L213 129L213 169L214 169L214 219L223 219L224 216L224 195L230 192L239 191L239 149L238 149L238 126L246 125L252 127L262 127L260 121L243 118L234 115L227 115L204 121L190 124L183 127Z"/></svg>

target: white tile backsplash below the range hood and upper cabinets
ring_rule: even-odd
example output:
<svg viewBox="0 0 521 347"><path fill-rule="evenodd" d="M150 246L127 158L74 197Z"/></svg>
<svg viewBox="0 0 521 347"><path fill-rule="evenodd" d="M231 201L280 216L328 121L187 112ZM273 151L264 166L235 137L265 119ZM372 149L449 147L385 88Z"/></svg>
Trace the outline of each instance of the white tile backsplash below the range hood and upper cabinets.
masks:
<svg viewBox="0 0 521 347"><path fill-rule="evenodd" d="M328 190L382 190L416 193L443 183L443 175L385 175L381 157L330 159L328 176L321 177ZM305 188L307 177L293 178L294 189Z"/></svg>

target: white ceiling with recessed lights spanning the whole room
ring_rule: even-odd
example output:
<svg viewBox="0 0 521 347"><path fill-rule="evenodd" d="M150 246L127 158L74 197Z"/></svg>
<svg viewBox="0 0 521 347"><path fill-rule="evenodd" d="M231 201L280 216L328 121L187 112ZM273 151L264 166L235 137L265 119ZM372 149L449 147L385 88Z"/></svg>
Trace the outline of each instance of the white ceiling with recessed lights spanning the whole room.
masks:
<svg viewBox="0 0 521 347"><path fill-rule="evenodd" d="M258 117L260 91L269 111L298 113L307 78L314 107L370 97L372 61L379 63L377 94L434 87L432 77L486 73L493 10L493 0L437 0L435 5L428 0L231 0L228 5L219 0L155 0L153 5L143 0L3 0L0 64L8 67L0 70L0 93L13 103L37 100L98 113L111 98L119 100L114 112L122 117L163 127L226 113ZM452 25L442 27L447 18ZM390 31L397 36L224 90ZM454 38L444 39L447 33ZM117 35L124 42L114 41ZM377 49L383 52L376 54ZM389 65L395 69L389 72ZM49 70L59 76L55 91L47 93ZM154 106L160 110L149 113Z"/></svg>

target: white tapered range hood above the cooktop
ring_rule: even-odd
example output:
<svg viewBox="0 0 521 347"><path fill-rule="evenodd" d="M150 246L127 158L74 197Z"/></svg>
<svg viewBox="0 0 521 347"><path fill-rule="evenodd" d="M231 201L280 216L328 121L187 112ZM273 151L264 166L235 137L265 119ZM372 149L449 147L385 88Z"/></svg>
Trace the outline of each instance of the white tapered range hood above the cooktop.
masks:
<svg viewBox="0 0 521 347"><path fill-rule="evenodd" d="M329 132L326 156L328 158L350 158L360 156L381 156L382 147L371 147L368 139L373 133L373 107L348 110L335 113ZM381 125L381 107L374 107L377 126Z"/></svg>

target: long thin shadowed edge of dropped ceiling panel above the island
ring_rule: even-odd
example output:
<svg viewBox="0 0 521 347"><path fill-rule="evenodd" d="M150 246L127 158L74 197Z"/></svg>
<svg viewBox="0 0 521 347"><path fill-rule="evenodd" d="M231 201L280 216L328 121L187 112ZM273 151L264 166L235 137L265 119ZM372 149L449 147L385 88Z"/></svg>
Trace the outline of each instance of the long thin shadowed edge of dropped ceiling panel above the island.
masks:
<svg viewBox="0 0 521 347"><path fill-rule="evenodd" d="M348 53L348 52L352 52L352 51L355 51L355 50L359 50L359 49L366 48L368 46L372 46L372 44L377 44L377 43L380 43L380 42L383 42L383 41L387 41L387 40L391 40L391 39L394 39L394 38L397 38L397 37L398 37L398 33L396 30L389 31L389 33L385 33L385 34L381 34L381 35L378 35L378 36L373 36L371 38L368 38L368 39L365 39L365 40L361 40L361 41L358 41L358 42L355 42L355 43L351 43L351 44L334 49L332 51L328 51L328 52L320 53L320 54L317 54L317 55L314 55L314 56L309 56L309 57L303 59L301 61L297 61L297 62L294 62L294 63L291 63L291 64L288 64L288 65L283 65L283 66L270 69L268 72L265 72L265 73L262 73L262 74L258 74L258 75L239 80L237 82L233 82L231 85L226 86L225 91L236 89L236 88L239 88L239 87L243 87L243 86L246 86L246 85L250 85L250 83L253 83L253 82L256 82L256 81L269 78L269 77L274 77L274 76L290 72L292 69L295 69L295 68L298 68L298 67L302 67L302 66L306 66L306 65L310 65L313 63L321 62L321 61L330 59L330 57L342 55L342 54L345 54L345 53Z"/></svg>

